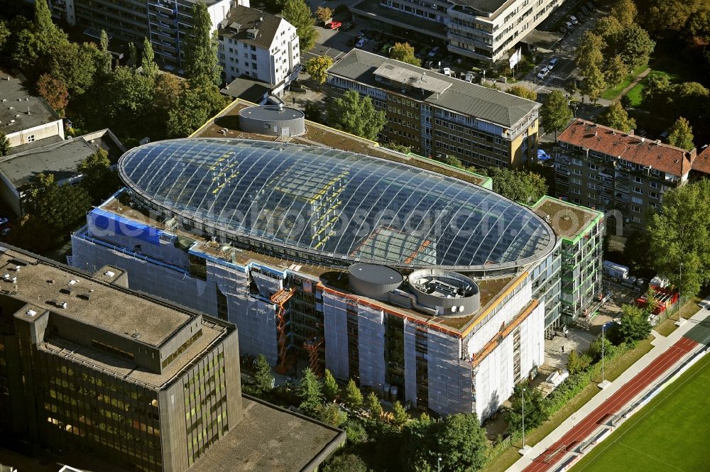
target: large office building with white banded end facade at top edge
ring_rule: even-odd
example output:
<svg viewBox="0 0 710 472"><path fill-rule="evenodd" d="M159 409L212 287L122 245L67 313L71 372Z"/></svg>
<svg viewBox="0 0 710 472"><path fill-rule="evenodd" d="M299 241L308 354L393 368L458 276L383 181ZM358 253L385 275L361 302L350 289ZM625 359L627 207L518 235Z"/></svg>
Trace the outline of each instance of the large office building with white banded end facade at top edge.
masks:
<svg viewBox="0 0 710 472"><path fill-rule="evenodd" d="M506 59L560 0L361 0L350 6L358 24L394 28L446 43L450 52L488 63Z"/></svg>

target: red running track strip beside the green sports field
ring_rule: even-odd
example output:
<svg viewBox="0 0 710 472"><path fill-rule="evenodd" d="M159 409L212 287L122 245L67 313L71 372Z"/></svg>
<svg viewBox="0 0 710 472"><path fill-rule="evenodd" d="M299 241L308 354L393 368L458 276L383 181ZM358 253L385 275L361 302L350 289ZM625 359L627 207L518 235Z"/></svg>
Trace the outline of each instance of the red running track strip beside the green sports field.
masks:
<svg viewBox="0 0 710 472"><path fill-rule="evenodd" d="M676 344L662 353L658 358L647 366L643 371L640 371L633 379L623 385L616 393L606 400L602 405L589 413L584 419L574 428L564 434L562 439L559 439L555 444L552 444L540 456L532 460L530 466L524 469L524 472L543 472L555 465L557 461L567 455L567 451L579 446L581 442L586 441L589 436L597 429L609 416L616 415L630 400L633 399L641 390L644 390L650 383L665 373L670 367L674 366L680 358L692 350L697 345L696 341L682 337Z"/></svg>

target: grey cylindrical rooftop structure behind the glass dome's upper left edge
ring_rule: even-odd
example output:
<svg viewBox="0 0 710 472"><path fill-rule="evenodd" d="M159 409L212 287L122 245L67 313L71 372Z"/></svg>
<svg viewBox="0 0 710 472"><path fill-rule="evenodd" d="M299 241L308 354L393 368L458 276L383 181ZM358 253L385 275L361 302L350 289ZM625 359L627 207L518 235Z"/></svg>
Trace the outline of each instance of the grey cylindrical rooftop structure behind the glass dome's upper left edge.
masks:
<svg viewBox="0 0 710 472"><path fill-rule="evenodd" d="M248 106L239 110L239 128L267 136L300 136L306 132L305 114L283 104Z"/></svg>

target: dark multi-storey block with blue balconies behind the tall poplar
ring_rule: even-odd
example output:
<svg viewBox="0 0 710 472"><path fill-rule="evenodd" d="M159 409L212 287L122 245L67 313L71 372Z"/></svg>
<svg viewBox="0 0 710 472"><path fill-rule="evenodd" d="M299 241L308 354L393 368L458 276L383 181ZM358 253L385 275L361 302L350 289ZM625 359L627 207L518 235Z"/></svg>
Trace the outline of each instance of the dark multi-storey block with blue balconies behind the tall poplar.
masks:
<svg viewBox="0 0 710 472"><path fill-rule="evenodd" d="M126 43L148 38L155 60L165 70L182 68L185 42L192 30L192 8L198 0L50 0L53 16L70 26L105 30ZM234 4L249 0L200 0L207 4L212 31ZM93 33L92 33L93 34Z"/></svg>

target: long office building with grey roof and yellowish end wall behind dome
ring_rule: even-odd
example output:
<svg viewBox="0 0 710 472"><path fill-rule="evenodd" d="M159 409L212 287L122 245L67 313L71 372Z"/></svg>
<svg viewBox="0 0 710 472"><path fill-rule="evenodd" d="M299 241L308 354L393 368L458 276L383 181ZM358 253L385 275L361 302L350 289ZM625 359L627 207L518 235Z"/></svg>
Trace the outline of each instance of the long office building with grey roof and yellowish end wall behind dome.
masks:
<svg viewBox="0 0 710 472"><path fill-rule="evenodd" d="M354 49L327 72L331 99L371 97L387 115L378 141L475 167L519 168L535 160L540 104Z"/></svg>

